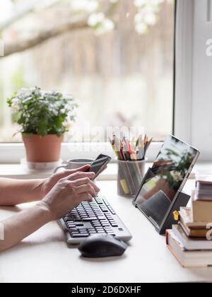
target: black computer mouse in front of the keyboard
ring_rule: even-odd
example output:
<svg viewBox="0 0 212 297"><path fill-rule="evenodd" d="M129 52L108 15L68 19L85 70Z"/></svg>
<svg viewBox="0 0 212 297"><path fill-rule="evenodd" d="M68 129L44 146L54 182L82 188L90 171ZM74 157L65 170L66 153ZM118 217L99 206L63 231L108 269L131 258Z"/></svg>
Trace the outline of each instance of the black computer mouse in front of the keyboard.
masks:
<svg viewBox="0 0 212 297"><path fill-rule="evenodd" d="M128 245L111 235L91 235L78 247L83 257L114 257L124 254Z"/></svg>

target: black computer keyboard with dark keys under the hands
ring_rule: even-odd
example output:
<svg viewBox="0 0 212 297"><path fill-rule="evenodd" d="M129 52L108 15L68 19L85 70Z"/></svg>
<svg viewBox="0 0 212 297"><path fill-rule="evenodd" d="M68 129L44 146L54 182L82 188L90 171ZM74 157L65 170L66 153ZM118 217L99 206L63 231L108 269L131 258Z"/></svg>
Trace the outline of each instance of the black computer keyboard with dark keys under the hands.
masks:
<svg viewBox="0 0 212 297"><path fill-rule="evenodd" d="M80 243L83 238L94 234L108 234L125 241L131 239L131 234L105 197L82 202L59 223L68 243Z"/></svg>

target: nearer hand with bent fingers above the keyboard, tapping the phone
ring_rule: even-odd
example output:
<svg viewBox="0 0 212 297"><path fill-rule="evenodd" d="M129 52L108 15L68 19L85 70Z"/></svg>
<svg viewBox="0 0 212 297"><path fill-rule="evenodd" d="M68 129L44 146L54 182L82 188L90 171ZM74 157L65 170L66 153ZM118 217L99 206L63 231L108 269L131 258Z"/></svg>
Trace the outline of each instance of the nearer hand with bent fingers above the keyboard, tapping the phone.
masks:
<svg viewBox="0 0 212 297"><path fill-rule="evenodd" d="M83 168L86 168L86 166ZM91 202L93 197L96 197L100 191L91 181L95 177L95 173L76 172L76 170L73 172L67 177L60 178L46 197L39 202L49 211L50 221L61 219L62 216L68 214L71 209L83 201ZM58 176L58 173L56 177L53 175L50 185L53 185Z"/></svg>

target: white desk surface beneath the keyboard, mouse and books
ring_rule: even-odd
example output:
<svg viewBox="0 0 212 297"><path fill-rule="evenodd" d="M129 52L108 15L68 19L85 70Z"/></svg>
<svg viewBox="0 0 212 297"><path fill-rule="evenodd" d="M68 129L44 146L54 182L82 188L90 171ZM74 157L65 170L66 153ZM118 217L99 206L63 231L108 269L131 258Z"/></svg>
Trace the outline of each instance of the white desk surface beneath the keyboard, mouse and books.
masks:
<svg viewBox="0 0 212 297"><path fill-rule="evenodd" d="M131 199L117 197L116 182L98 185L134 236L126 253L107 260L83 259L76 248L67 247L61 229L52 222L0 254L0 283L212 281L212 268L183 269L178 264L166 248L165 237L155 232ZM189 180L186 192L193 186ZM16 211L1 208L0 220Z"/></svg>

